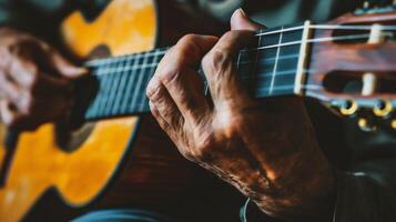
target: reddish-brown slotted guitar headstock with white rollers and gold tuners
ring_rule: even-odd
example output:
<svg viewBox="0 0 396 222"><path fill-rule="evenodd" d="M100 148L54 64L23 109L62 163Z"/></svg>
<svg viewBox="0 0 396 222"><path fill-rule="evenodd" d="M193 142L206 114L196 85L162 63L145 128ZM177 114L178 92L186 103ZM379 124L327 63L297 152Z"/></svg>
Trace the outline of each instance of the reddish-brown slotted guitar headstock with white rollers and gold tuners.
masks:
<svg viewBox="0 0 396 222"><path fill-rule="evenodd" d="M396 132L395 6L366 6L312 27L306 95L341 115L358 118L365 131L380 127Z"/></svg>

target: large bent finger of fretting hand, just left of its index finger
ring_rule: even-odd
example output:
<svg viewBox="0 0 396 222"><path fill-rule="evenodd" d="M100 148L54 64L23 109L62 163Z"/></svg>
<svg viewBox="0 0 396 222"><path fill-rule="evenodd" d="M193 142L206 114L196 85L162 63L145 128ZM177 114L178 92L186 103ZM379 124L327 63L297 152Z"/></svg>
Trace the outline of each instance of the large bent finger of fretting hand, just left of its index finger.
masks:
<svg viewBox="0 0 396 222"><path fill-rule="evenodd" d="M209 110L196 70L203 56L216 41L217 38L207 36L189 34L182 38L165 54L155 72L185 120L193 124Z"/></svg>

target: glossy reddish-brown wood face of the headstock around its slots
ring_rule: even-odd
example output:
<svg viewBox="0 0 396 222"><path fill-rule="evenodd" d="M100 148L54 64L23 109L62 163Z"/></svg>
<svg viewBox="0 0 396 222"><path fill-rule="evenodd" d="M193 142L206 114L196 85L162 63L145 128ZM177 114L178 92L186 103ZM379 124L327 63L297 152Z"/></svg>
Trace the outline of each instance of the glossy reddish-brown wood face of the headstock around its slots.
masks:
<svg viewBox="0 0 396 222"><path fill-rule="evenodd" d="M375 13L375 14L346 14L328 24L334 26L372 26L396 24L396 13ZM366 33L369 33L367 30ZM342 34L339 30L323 29L315 30L314 38L333 38ZM349 34L352 34L351 32ZM346 33L344 33L346 34ZM306 93L309 97L314 97L323 102L331 102L337 99L353 99L353 100L375 100L375 99L388 99L396 100L394 93L389 94L373 94L370 97L364 97L362 94L351 93L336 93L326 89L326 78L332 72L341 72L344 75L348 73L356 73L362 75L365 72L374 72L378 77L386 77L389 80L395 79L396 72L396 42L383 41L375 44L367 42L349 42L341 43L337 41L316 42L311 44L311 73L307 78L307 85L316 85L315 89L307 89ZM338 83L341 80L338 81Z"/></svg>

